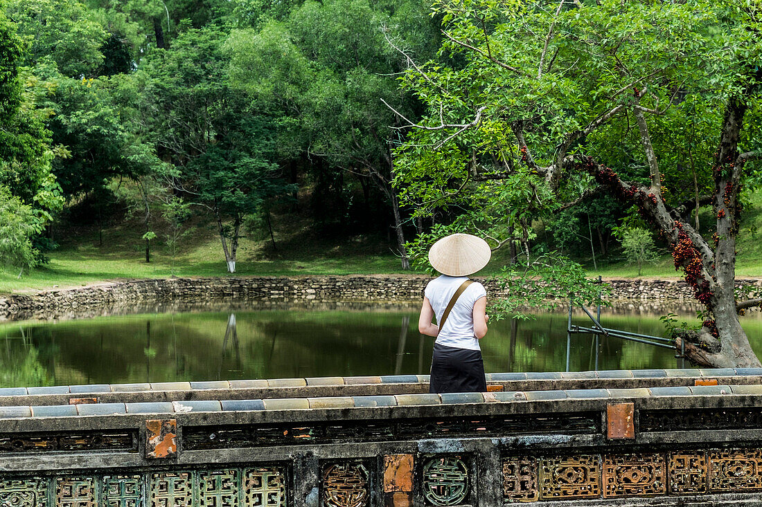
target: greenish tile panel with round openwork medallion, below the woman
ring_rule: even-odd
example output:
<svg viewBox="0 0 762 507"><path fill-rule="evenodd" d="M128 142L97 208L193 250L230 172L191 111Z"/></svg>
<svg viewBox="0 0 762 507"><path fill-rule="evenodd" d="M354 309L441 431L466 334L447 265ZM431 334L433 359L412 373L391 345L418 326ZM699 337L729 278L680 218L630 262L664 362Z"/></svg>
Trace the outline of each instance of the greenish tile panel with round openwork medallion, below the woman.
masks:
<svg viewBox="0 0 762 507"><path fill-rule="evenodd" d="M459 456L431 458L424 464L427 505L459 505L469 494L469 467Z"/></svg>

